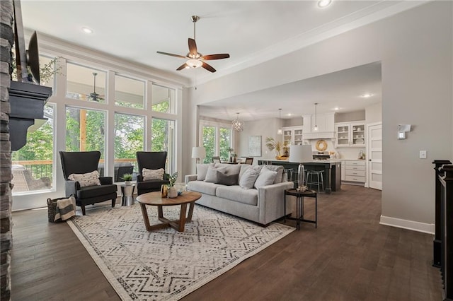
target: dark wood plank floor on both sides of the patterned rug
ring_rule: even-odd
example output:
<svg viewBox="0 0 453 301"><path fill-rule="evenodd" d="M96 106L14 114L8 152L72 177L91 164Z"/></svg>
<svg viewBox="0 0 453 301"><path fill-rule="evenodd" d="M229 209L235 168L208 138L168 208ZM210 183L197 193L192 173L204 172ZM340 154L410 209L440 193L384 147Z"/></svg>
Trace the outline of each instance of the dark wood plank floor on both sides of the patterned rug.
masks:
<svg viewBox="0 0 453 301"><path fill-rule="evenodd" d="M432 235L379 225L380 200L351 185L319 194L317 229L304 223L183 300L442 300ZM47 223L47 208L13 223L12 300L120 300L69 226Z"/></svg>

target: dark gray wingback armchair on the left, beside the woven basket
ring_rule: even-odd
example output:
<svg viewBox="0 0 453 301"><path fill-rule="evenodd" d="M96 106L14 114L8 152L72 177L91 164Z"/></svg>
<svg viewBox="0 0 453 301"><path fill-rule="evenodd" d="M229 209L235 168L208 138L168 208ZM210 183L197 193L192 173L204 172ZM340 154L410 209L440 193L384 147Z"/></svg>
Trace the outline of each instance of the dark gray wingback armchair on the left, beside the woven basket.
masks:
<svg viewBox="0 0 453 301"><path fill-rule="evenodd" d="M79 182L68 179L71 174L85 174L98 170L101 153L98 151L86 152L59 152L62 160L62 169L64 175L64 188L66 196L74 194L76 205L82 209L85 215L85 206L93 205L103 201L112 200L112 207L115 207L117 197L117 186L113 184L112 177L99 177L101 185L81 187Z"/></svg>

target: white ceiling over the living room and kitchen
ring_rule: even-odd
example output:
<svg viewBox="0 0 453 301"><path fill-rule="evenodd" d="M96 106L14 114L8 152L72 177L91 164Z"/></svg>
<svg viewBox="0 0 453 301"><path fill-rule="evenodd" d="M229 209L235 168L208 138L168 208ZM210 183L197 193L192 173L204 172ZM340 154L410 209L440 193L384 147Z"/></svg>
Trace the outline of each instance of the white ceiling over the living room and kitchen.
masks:
<svg viewBox="0 0 453 301"><path fill-rule="evenodd" d="M21 0L24 28L38 31L38 39L39 33L45 33L151 69L189 78L192 83L196 75L198 84L422 3L424 1L333 0L331 6L319 8L317 1ZM156 53L187 54L188 37L193 37L190 20L193 15L200 16L196 23L198 51L202 54L229 53L231 56L207 61L217 69L216 73L204 69L176 71L184 59ZM83 27L91 28L93 33L83 33ZM243 98L249 103L257 103L253 109L248 107L249 114L243 109L238 111L244 112L243 119L278 117L279 107L283 109L284 117L287 112L294 111L294 100L305 100L301 102L303 107L320 102L321 111L338 106L340 112L360 110L367 101L380 101L380 64L352 71L357 73L345 71L347 76L332 73L326 78L320 76L304 83L221 100L202 112L212 117L219 112L234 116L241 108ZM358 95L362 93L374 93L375 96L358 102ZM276 98L278 105L275 105ZM310 112L302 110L302 114Z"/></svg>

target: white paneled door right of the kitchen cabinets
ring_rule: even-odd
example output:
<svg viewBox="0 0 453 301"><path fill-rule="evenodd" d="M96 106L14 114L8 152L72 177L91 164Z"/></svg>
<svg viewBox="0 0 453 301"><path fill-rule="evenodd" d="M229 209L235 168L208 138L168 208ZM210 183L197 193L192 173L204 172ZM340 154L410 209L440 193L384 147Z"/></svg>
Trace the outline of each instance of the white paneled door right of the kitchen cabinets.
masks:
<svg viewBox="0 0 453 301"><path fill-rule="evenodd" d="M382 190L382 123L368 126L369 188Z"/></svg>

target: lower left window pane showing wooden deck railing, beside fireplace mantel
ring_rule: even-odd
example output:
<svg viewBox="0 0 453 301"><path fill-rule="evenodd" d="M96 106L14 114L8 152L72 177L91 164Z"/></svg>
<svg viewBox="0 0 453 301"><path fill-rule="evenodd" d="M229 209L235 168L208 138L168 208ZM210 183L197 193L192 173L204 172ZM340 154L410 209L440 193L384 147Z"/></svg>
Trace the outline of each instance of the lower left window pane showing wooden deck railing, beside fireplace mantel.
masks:
<svg viewBox="0 0 453 301"><path fill-rule="evenodd" d="M13 151L13 195L52 188L54 153L54 105L44 107L46 119L35 119L28 128L27 144Z"/></svg>

